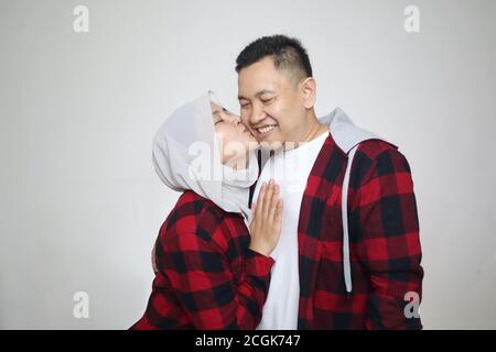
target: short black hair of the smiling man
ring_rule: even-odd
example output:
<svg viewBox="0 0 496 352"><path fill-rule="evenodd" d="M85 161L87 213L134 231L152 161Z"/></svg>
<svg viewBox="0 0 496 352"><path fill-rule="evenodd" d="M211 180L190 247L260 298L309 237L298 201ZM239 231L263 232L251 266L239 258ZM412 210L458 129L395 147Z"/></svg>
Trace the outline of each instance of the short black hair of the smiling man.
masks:
<svg viewBox="0 0 496 352"><path fill-rule="evenodd" d="M306 50L298 38L285 35L262 36L248 44L236 59L236 72L239 73L265 57L271 57L276 68L298 70L300 78L312 77Z"/></svg>

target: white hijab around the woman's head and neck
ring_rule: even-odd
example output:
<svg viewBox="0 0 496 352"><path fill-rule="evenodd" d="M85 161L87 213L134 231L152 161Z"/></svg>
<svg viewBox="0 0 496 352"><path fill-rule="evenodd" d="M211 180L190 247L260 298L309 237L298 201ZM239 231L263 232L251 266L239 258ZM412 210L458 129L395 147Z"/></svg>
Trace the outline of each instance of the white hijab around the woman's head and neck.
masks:
<svg viewBox="0 0 496 352"><path fill-rule="evenodd" d="M153 139L153 165L171 189L191 189L225 211L239 212L248 227L249 187L257 180L258 163L250 153L246 169L235 170L222 164L211 101L218 105L208 91L165 120Z"/></svg>

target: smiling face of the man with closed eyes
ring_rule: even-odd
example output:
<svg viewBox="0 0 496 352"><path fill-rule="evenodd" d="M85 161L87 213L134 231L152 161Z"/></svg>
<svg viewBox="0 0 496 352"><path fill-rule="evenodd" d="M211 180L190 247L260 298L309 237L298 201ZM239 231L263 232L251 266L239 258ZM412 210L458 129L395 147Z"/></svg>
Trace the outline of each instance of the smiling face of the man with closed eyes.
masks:
<svg viewBox="0 0 496 352"><path fill-rule="evenodd" d="M299 142L306 109L300 86L266 57L239 72L241 121L260 142Z"/></svg>

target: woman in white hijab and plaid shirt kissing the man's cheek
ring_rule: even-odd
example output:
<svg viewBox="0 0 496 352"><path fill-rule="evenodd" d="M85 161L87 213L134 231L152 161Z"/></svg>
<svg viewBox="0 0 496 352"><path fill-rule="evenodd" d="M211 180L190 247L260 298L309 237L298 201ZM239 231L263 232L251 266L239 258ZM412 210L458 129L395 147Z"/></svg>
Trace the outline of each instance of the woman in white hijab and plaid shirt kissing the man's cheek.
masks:
<svg viewBox="0 0 496 352"><path fill-rule="evenodd" d="M153 142L162 182L183 191L155 242L157 273L131 329L255 329L282 218L278 186L262 187L255 138L211 92L176 110ZM248 231L249 224L249 231Z"/></svg>

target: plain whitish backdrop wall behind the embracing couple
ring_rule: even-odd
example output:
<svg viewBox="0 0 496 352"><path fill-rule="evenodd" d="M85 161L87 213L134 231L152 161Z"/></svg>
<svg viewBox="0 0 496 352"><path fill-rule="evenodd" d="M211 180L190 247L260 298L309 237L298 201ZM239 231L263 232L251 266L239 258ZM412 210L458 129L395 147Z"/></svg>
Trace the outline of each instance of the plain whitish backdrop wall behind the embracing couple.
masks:
<svg viewBox="0 0 496 352"><path fill-rule="evenodd" d="M73 9L89 9L75 33ZM420 33L403 10L420 9ZM0 328L125 329L177 194L151 140L258 36L308 47L317 114L398 144L418 198L427 329L496 329L495 1L0 2ZM75 319L73 295L89 295Z"/></svg>

